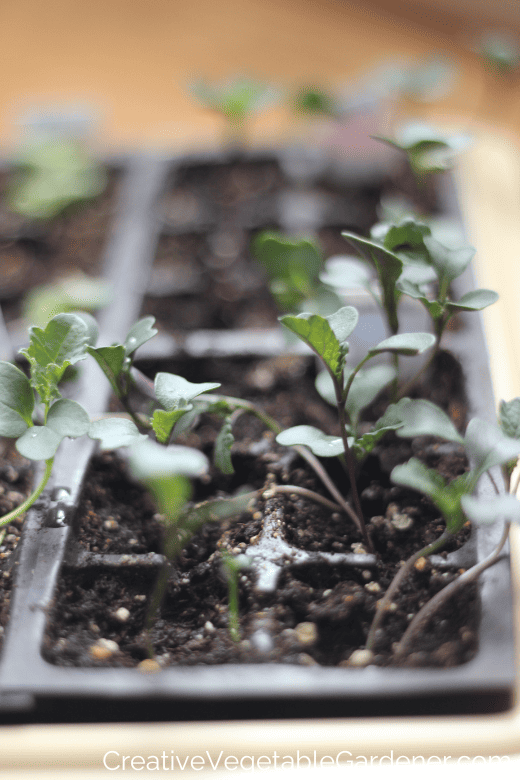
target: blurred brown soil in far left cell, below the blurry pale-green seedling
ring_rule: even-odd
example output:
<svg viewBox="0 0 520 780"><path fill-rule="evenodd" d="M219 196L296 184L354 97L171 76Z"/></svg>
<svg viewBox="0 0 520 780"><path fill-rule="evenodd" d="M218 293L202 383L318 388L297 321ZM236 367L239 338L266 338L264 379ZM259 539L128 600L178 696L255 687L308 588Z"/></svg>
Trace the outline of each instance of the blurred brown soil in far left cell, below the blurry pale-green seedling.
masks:
<svg viewBox="0 0 520 780"><path fill-rule="evenodd" d="M119 181L119 172L111 170L98 198L42 223L26 223L0 204L0 304L6 322L21 316L23 297L33 287L79 271L101 274Z"/></svg>

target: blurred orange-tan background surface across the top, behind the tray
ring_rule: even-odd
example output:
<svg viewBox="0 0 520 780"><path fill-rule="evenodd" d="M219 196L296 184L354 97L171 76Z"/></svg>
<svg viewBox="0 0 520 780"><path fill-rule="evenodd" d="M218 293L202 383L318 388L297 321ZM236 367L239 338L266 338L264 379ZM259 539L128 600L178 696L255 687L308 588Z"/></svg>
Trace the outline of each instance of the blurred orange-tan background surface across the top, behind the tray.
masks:
<svg viewBox="0 0 520 780"><path fill-rule="evenodd" d="M431 52L448 54L459 71L437 114L476 114L516 130L518 100L489 89L470 50L490 25L491 4L480 0L471 13L468 5L457 3L455 17L446 0L3 0L0 144L12 142L13 119L27 105L71 99L100 109L109 146L182 144L211 135L217 121L187 94L193 76L248 71L282 85L334 85L384 59ZM501 5L512 7L493 4L498 18ZM260 130L279 119L266 117Z"/></svg>

